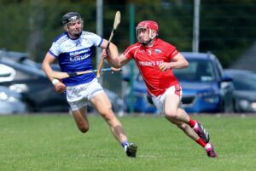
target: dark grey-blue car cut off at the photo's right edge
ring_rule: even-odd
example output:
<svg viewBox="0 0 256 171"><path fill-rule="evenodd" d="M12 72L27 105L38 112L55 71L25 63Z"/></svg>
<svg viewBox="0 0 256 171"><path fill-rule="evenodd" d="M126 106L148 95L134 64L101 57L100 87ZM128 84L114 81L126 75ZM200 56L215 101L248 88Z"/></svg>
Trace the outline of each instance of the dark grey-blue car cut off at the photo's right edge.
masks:
<svg viewBox="0 0 256 171"><path fill-rule="evenodd" d="M226 75L232 77L234 93L234 110L236 112L256 111L256 73L253 71L226 69Z"/></svg>

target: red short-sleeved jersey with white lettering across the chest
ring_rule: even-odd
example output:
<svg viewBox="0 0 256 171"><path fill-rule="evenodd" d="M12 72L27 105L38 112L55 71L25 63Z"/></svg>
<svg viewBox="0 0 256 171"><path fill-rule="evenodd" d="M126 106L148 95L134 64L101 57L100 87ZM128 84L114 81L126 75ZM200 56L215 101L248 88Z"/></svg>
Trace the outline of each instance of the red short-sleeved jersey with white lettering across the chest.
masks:
<svg viewBox="0 0 256 171"><path fill-rule="evenodd" d="M176 47L172 44L156 38L150 47L135 43L126 48L123 54L126 58L133 58L136 61L149 94L155 96L164 94L167 88L178 83L172 70L160 71L159 69L161 63L170 62L178 54Z"/></svg>

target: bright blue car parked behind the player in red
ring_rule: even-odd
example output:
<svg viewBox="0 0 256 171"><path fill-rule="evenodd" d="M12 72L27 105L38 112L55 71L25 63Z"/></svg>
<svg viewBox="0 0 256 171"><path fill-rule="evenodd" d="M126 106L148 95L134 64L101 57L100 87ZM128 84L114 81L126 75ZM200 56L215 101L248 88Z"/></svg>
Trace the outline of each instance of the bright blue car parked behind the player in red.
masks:
<svg viewBox="0 0 256 171"><path fill-rule="evenodd" d="M233 111L232 79L224 75L217 57L207 53L182 54L189 61L189 67L174 69L173 72L183 88L183 109L189 113ZM129 78L125 77L125 80L129 81ZM125 94L125 104L129 104L129 94L131 91ZM139 73L134 80L134 96L135 111L156 111L154 106L148 105L147 89ZM129 108L126 107L126 110L129 111Z"/></svg>

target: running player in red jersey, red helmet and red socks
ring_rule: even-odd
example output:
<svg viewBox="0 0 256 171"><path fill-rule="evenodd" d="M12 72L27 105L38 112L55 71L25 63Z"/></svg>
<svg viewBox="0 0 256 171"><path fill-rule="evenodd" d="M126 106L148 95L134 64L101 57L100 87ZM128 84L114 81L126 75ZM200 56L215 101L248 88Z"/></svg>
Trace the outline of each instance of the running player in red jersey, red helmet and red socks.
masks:
<svg viewBox="0 0 256 171"><path fill-rule="evenodd" d="M103 57L116 68L124 66L131 59L135 60L148 88L148 94L160 113L204 147L208 157L218 157L207 130L179 107L182 88L173 75L172 69L186 68L189 63L176 47L157 37L158 31L156 22L144 20L136 27L137 43L126 48L120 56L118 52L110 54L103 51Z"/></svg>

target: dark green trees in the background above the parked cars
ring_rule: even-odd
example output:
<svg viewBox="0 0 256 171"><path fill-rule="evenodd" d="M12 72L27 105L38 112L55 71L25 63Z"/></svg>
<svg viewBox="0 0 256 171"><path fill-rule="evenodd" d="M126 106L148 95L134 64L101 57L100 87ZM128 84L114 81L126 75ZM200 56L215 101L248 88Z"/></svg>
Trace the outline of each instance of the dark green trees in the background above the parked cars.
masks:
<svg viewBox="0 0 256 171"><path fill-rule="evenodd" d="M26 51L42 61L52 41L62 32L61 16L79 11L84 29L96 32L96 1L87 0L0 0L0 48ZM160 38L173 43L180 51L192 50L194 4L189 0L103 1L103 35L108 38L113 16L120 10L122 20L113 42L122 52L130 44L129 7L135 5L135 26L140 20L156 20ZM200 51L217 54L225 67L255 42L256 2L201 1Z"/></svg>

